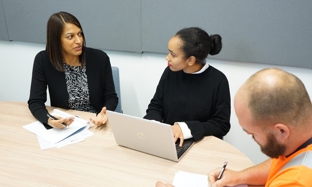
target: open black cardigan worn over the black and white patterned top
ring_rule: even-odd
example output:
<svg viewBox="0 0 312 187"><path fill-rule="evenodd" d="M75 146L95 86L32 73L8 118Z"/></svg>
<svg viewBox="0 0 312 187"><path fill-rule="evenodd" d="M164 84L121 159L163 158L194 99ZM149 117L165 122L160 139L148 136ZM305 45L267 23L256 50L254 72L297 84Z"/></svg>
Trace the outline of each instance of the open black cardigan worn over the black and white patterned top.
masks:
<svg viewBox="0 0 312 187"><path fill-rule="evenodd" d="M114 111L118 97L110 66L110 58L98 49L85 48L86 75L88 80L89 100L96 111L104 106ZM49 88L51 106L67 108L68 92L65 72L57 71L49 60L46 50L39 52L32 69L32 84L28 108L41 123L48 123L45 107L46 89Z"/></svg>

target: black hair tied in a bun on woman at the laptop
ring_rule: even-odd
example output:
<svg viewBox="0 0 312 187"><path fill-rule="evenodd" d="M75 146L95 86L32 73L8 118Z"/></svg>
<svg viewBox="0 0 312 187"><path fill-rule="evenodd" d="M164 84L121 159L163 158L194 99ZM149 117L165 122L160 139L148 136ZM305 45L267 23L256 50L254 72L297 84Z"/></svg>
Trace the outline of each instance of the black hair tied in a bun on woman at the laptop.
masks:
<svg viewBox="0 0 312 187"><path fill-rule="evenodd" d="M218 54L222 49L222 42L220 35L208 35L206 31L198 27L189 27L181 29L177 32L183 44L180 50L184 53L184 58L191 56L196 58L197 63L204 65L204 60L208 54Z"/></svg>

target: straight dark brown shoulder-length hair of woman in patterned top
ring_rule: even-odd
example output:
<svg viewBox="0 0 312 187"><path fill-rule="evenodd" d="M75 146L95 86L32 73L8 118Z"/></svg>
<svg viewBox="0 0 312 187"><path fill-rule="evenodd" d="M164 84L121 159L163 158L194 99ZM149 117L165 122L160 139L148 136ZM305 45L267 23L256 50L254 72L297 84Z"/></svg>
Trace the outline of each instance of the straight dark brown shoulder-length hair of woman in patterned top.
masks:
<svg viewBox="0 0 312 187"><path fill-rule="evenodd" d="M61 45L61 34L65 23L72 23L79 27L82 31L81 25L77 18L67 12L58 12L52 14L46 26L46 51L53 66L60 72L64 72L63 67L63 49ZM85 35L82 34L82 53L79 55L79 62L81 65L85 64Z"/></svg>

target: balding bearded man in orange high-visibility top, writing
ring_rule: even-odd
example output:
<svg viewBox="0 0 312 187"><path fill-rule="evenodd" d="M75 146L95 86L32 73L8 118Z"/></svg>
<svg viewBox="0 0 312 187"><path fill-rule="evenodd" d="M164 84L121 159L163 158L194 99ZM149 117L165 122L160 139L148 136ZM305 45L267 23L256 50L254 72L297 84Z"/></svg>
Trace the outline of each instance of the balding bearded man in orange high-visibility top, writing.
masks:
<svg viewBox="0 0 312 187"><path fill-rule="evenodd" d="M234 108L243 130L271 158L243 171L225 169L220 180L217 168L209 185L312 186L312 104L300 79L277 68L256 72L237 91Z"/></svg>

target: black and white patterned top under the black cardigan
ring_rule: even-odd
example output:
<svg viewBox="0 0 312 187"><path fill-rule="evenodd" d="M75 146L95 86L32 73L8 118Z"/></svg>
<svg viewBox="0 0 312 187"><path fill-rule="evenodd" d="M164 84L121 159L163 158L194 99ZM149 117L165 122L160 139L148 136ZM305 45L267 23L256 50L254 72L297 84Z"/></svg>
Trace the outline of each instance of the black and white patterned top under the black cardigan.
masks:
<svg viewBox="0 0 312 187"><path fill-rule="evenodd" d="M73 110L96 113L89 101L89 89L85 65L70 66L63 62L68 92L67 107Z"/></svg>

